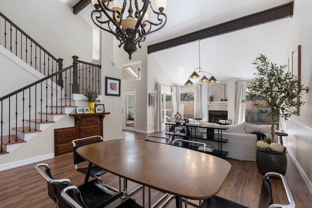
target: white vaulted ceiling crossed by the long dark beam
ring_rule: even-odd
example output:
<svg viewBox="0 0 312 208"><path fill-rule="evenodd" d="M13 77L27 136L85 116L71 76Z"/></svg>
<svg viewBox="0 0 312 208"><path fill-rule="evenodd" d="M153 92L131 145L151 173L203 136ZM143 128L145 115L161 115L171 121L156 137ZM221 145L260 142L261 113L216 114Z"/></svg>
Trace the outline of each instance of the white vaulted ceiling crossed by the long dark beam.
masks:
<svg viewBox="0 0 312 208"><path fill-rule="evenodd" d="M78 0L61 1L70 6L78 2ZM196 0L193 1L195 3L190 3L190 1L167 0L164 10L167 15L166 25L160 31L147 36L146 41L141 45L144 47L176 38L291 1ZM155 5L153 0L152 4ZM78 15L96 28L91 20L92 9L91 4ZM225 80L230 77L253 77L255 70L251 63L259 54L266 55L278 65L284 64L289 24L290 18L280 19L225 35L202 39L200 41L200 66L204 71L213 74L216 79ZM116 51L126 53L122 48ZM199 66L197 41L158 51L153 55L175 85L183 85L188 76Z"/></svg>

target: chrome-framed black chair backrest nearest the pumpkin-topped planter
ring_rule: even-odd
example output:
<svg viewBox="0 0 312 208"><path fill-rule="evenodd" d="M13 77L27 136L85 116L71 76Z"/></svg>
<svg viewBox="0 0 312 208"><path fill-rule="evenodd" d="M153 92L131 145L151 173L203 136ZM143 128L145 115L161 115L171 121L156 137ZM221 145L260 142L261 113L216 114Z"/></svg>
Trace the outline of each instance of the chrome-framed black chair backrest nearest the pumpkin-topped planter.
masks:
<svg viewBox="0 0 312 208"><path fill-rule="evenodd" d="M288 205L281 205L281 204L273 204L273 198L272 198L272 189L270 185L269 178L273 177L279 177L282 182L285 189L285 193L288 199ZM280 194L280 193L279 193ZM268 172L264 175L262 180L262 187L261 187L261 193L260 193L260 199L259 199L259 205L258 208L295 208L295 204L292 198L292 193L289 189L288 183L286 181L286 178L284 175L277 173L277 172Z"/></svg>

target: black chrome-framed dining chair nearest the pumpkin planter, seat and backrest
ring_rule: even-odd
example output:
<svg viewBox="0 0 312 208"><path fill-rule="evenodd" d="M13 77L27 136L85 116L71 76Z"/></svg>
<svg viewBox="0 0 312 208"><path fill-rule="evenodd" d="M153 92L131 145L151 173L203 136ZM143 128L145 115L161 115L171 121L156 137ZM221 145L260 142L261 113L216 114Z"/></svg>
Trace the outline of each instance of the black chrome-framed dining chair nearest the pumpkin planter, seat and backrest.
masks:
<svg viewBox="0 0 312 208"><path fill-rule="evenodd" d="M282 180L289 204L287 205L273 204L272 189L269 181L269 178L271 176L278 177ZM240 205L236 202L233 202L231 200L225 199L223 197L214 196L209 199L205 199L201 204L200 208L247 208L247 207ZM268 172L264 175L262 179L262 187L258 208L295 208L292 193L289 189L288 183L284 175L277 172Z"/></svg>

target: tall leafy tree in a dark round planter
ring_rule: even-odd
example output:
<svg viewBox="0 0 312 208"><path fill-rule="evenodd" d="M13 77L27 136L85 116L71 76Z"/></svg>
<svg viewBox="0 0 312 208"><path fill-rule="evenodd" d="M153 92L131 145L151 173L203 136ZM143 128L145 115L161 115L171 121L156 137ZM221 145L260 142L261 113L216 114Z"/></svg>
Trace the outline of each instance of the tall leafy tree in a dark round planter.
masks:
<svg viewBox="0 0 312 208"><path fill-rule="evenodd" d="M305 103L297 98L301 97L303 93L307 93L308 87L300 85L300 77L294 76L289 72L285 73L285 65L277 66L264 55L260 54L252 64L257 72L254 73L254 82L248 86L248 95L260 113L266 113L268 110L271 110L271 138L273 141L275 134L274 116L279 115L287 120L296 113L297 107ZM260 102L259 97L265 102ZM246 100L242 100L242 102L246 102ZM280 144L278 144L280 145L278 147L279 151L272 151L273 148L271 146L278 146L276 144L264 145L267 148L265 146L263 146L264 148L258 147L256 151L256 162L259 172L265 174L267 171L277 171L285 174L287 157L282 152L286 152L286 150L280 147L282 146ZM262 155L266 151L271 155ZM277 166L276 170L274 166ZM260 170L261 168L265 168L265 170Z"/></svg>

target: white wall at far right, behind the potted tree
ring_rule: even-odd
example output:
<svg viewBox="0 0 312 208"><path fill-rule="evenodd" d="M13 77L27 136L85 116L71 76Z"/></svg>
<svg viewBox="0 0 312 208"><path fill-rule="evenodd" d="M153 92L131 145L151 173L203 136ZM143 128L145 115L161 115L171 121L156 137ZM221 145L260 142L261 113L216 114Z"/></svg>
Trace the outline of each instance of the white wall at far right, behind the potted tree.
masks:
<svg viewBox="0 0 312 208"><path fill-rule="evenodd" d="M294 155L298 166L304 171L309 183L312 182L312 1L294 0L293 17L291 18L285 63L298 45L301 45L301 84L309 86L309 94L303 95L305 105L300 107L300 115L292 116L286 121L285 138L289 150ZM287 174L287 172L286 172ZM312 185L311 185L312 191Z"/></svg>

